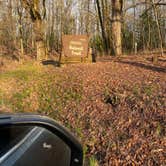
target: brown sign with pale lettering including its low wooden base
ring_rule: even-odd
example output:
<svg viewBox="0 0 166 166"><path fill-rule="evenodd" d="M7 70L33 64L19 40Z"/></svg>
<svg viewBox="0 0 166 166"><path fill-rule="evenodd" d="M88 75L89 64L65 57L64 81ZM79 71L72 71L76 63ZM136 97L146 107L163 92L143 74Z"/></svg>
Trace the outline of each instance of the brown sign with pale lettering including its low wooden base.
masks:
<svg viewBox="0 0 166 166"><path fill-rule="evenodd" d="M62 37L62 62L88 62L89 38L87 35L64 35Z"/></svg>

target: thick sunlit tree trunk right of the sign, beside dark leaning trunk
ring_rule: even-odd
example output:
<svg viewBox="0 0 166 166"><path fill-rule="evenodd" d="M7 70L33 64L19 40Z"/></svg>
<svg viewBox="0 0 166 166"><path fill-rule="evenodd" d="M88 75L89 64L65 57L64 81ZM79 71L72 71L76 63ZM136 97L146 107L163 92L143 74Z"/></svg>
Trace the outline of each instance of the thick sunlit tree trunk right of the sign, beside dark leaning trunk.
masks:
<svg viewBox="0 0 166 166"><path fill-rule="evenodd" d="M115 56L122 55L122 0L112 0L112 38Z"/></svg>

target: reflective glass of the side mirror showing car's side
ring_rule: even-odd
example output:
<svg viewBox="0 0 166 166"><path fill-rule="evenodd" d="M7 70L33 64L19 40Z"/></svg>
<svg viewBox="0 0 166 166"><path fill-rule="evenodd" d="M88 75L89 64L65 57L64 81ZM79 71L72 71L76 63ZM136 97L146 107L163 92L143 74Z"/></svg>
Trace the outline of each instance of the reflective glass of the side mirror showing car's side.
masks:
<svg viewBox="0 0 166 166"><path fill-rule="evenodd" d="M70 148L45 128L0 128L1 166L69 166L70 160Z"/></svg>

